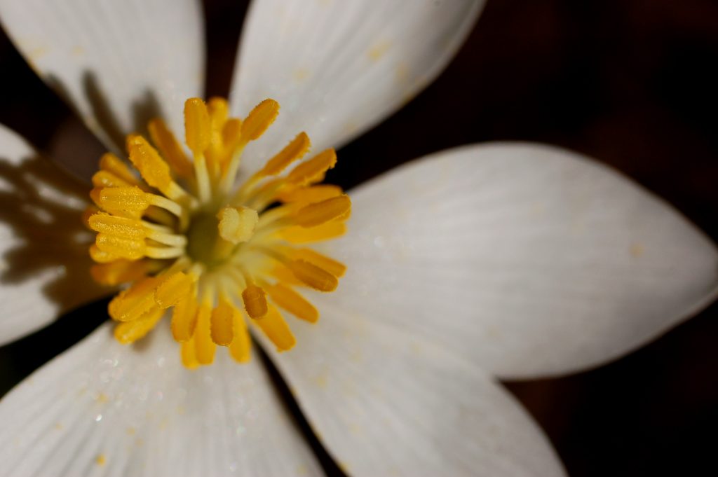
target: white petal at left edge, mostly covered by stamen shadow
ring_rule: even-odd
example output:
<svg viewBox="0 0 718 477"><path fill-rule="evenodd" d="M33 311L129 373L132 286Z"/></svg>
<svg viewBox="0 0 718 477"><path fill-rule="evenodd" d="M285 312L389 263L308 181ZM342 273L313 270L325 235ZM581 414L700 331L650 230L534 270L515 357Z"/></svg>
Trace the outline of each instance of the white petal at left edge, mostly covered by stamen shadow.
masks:
<svg viewBox="0 0 718 477"><path fill-rule="evenodd" d="M90 278L87 191L0 125L0 344L108 293Z"/></svg>

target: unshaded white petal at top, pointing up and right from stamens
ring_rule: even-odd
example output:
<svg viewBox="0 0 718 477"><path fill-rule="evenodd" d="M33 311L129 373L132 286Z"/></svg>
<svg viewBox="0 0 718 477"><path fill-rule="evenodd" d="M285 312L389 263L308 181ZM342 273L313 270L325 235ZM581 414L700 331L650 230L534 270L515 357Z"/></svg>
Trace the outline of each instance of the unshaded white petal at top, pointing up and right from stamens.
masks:
<svg viewBox="0 0 718 477"><path fill-rule="evenodd" d="M299 131L338 148L401 108L439 75L484 0L263 0L248 12L230 95L246 115L264 98L281 112L243 167Z"/></svg>

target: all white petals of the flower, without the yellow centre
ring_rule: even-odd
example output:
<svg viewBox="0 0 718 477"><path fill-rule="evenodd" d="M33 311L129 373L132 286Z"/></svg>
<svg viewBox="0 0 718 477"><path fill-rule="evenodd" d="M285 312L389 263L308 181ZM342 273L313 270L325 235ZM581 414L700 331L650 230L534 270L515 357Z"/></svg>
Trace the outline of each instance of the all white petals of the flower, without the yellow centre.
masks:
<svg viewBox="0 0 718 477"><path fill-rule="evenodd" d="M283 109L248 148L246 174L298 131L321 151L381 121L442 70L481 4L256 1L230 105L246 113L271 97ZM99 93L122 133L148 98L181 131L183 101L201 95L202 20L192 0L2 0L0 15L39 74L62 87L109 147L116 131L97 108ZM30 173L42 176L28 169L34 156L0 129L4 168L29 170L29 179L0 184L4 192L34 198L21 187ZM37 197L57 202L54 181L37 186ZM292 351L266 347L350 475L563 475L541 430L496 379L615 359L718 293L718 253L699 230L568 151L464 146L351 195L350 233L326 244L348 265L339 291L312 297L317 324L292 321ZM29 205L19 215L43 223ZM34 235L18 227L31 233L0 222L2 255L31 237L65 268L0 283L2 342L100 293L84 282L72 296L48 291L76 270L71 259L84 248L62 240L64 223ZM0 403L1 474L321 473L261 360L238 365L219 354L212 367L189 372L167 330L126 347L109 327Z"/></svg>

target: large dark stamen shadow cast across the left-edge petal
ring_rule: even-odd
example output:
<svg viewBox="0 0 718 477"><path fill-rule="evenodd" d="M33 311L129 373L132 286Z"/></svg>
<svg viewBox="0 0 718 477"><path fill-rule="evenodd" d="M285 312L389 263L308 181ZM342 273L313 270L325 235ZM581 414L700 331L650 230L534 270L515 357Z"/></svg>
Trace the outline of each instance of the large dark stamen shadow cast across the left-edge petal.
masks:
<svg viewBox="0 0 718 477"><path fill-rule="evenodd" d="M88 187L39 156L0 157L0 226L6 229L0 283L42 280L42 293L67 311L108 293L90 277L93 234L82 224Z"/></svg>

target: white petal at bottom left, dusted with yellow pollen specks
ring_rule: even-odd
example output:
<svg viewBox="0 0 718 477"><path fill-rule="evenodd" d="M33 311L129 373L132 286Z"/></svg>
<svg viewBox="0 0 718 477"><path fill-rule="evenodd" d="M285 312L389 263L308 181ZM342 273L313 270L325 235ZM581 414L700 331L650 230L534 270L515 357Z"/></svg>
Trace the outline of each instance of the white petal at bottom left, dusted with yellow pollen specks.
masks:
<svg viewBox="0 0 718 477"><path fill-rule="evenodd" d="M321 473L257 359L236 364L218 349L213 366L190 371L166 326L136 346L111 327L0 402L0 475Z"/></svg>

